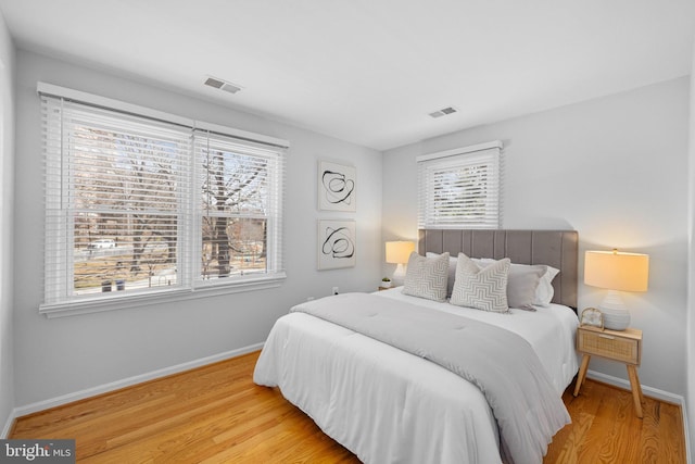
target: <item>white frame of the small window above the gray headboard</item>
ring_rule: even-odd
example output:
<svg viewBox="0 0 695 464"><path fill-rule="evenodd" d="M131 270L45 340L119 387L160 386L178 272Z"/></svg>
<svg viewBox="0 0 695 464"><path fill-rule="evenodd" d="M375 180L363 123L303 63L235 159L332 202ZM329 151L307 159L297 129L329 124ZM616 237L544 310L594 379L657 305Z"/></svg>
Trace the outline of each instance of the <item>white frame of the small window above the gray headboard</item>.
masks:
<svg viewBox="0 0 695 464"><path fill-rule="evenodd" d="M501 140L479 143L469 147L462 147L437 153L422 154L416 158L418 165L418 228L424 229L454 229L454 228L494 228L502 227L502 178L504 171ZM485 189L489 192L483 198L484 206L481 221L475 221L464 215L464 208L457 205L458 215L452 218L438 218L440 215L433 213L435 197L435 178L441 177L440 173L454 173L457 170L484 165ZM434 175L433 173L438 174ZM439 177L438 177L439 176ZM475 178L475 177L470 177Z"/></svg>

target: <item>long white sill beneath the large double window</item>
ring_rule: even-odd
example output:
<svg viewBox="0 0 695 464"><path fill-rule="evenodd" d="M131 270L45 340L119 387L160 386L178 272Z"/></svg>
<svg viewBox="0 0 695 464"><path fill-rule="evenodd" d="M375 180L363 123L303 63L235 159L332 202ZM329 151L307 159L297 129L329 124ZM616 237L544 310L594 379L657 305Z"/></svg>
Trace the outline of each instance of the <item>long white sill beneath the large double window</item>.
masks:
<svg viewBox="0 0 695 464"><path fill-rule="evenodd" d="M240 293L245 291L265 290L279 287L287 275L275 274L273 277L249 278L235 280L226 285L201 285L193 289L162 290L129 296L109 296L56 304L39 305L39 314L48 318L75 316L79 314L101 313L104 311L127 310L152 304L172 303L182 300L217 297L222 294Z"/></svg>

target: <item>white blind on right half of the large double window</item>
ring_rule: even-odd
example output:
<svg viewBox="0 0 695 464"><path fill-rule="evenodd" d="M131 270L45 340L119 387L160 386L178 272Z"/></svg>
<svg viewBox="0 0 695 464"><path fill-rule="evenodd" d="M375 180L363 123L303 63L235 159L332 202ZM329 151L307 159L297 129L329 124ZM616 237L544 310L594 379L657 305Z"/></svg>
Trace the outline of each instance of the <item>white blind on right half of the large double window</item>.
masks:
<svg viewBox="0 0 695 464"><path fill-rule="evenodd" d="M194 136L201 283L282 271L285 158L211 131Z"/></svg>

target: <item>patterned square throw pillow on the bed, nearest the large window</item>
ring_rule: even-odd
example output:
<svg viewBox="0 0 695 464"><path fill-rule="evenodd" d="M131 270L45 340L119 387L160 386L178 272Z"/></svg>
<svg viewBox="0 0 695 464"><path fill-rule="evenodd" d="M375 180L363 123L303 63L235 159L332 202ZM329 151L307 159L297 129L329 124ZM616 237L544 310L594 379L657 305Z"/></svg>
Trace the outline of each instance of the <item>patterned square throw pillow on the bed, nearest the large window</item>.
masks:
<svg viewBox="0 0 695 464"><path fill-rule="evenodd" d="M434 301L446 300L448 253L437 258L420 256L415 251L408 259L403 293Z"/></svg>

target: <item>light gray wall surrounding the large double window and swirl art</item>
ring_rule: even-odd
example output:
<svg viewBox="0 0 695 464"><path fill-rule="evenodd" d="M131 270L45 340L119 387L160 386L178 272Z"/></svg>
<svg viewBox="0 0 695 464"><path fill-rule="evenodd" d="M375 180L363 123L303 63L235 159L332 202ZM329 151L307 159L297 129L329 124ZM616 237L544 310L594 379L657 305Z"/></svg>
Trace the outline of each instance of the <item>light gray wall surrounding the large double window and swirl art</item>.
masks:
<svg viewBox="0 0 695 464"><path fill-rule="evenodd" d="M41 130L37 80L287 139L286 268L280 288L56 319L41 302ZM265 340L273 323L307 297L374 291L380 274L381 154L182 95L30 52L17 53L15 375L16 404L149 373ZM317 160L356 166L357 265L316 271Z"/></svg>

